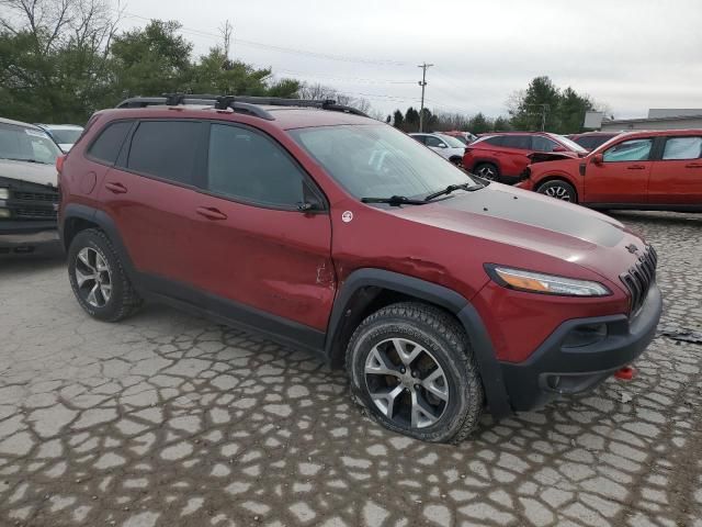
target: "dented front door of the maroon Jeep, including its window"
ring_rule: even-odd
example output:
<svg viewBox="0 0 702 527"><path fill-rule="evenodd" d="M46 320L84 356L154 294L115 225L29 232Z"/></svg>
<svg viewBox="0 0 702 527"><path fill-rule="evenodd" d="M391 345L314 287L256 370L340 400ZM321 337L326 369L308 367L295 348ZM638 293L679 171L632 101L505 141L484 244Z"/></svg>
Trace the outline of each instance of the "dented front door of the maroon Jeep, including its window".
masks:
<svg viewBox="0 0 702 527"><path fill-rule="evenodd" d="M296 340L305 328L322 332L336 284L324 195L258 130L212 123L207 153L206 191L189 204L196 287L213 295L213 311L257 327L284 327Z"/></svg>

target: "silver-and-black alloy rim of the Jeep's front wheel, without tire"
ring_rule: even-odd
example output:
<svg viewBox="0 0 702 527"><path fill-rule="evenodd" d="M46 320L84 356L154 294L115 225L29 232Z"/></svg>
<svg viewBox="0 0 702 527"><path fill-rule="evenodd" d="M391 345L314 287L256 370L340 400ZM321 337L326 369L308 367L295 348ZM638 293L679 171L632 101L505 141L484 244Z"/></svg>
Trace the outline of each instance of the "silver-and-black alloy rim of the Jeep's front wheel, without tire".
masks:
<svg viewBox="0 0 702 527"><path fill-rule="evenodd" d="M365 383L375 406L394 423L411 428L435 424L449 404L449 382L434 356L405 338L371 349Z"/></svg>

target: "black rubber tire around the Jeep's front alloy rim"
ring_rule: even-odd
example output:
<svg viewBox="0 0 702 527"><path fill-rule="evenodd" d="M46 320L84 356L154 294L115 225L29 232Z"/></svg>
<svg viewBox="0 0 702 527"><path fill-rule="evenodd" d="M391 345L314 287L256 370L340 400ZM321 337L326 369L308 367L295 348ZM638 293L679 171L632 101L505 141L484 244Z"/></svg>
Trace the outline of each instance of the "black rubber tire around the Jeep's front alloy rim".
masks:
<svg viewBox="0 0 702 527"><path fill-rule="evenodd" d="M370 355L381 349L380 347L385 346L392 338L416 343L429 352L427 356L435 361L435 366L440 367L444 374L442 386L445 390L448 401L442 402L435 396L432 397L428 390L418 388L419 384L414 386L417 389L416 393L415 390L410 392L410 388L401 388L407 384L401 384L404 381L400 382L394 377L366 374L366 361L369 363L373 361ZM395 348L390 345L389 349L392 352ZM420 355L419 359L415 360L424 360L427 356ZM414 365L416 362L412 363L411 370L415 370ZM418 370L420 368L421 366L417 367ZM407 367L407 370L410 370L410 366ZM484 393L468 338L458 322L438 307L405 302L388 305L370 315L359 325L349 341L347 371L354 401L365 408L373 419L393 431L423 441L458 442L465 439L478 425L484 406ZM403 369L403 374L404 372ZM409 371L407 374L410 374ZM426 379L427 375L429 373L424 374L420 371L417 380L423 383L421 378ZM398 414L394 416L395 418L388 417L386 413L381 411L371 395L369 383L375 382L378 377L389 379L389 382L397 381L395 388L400 391L400 395L395 396L397 403L395 401L390 403ZM412 379L409 381L416 382ZM383 389L384 386L380 390ZM394 391L392 388L388 390ZM421 392L422 390L423 392ZM433 399L438 401L437 408L442 408L437 421L423 427L412 426L412 423L406 417L407 412L412 414L415 397L420 396L422 404L429 404ZM409 408L405 408L407 405Z"/></svg>

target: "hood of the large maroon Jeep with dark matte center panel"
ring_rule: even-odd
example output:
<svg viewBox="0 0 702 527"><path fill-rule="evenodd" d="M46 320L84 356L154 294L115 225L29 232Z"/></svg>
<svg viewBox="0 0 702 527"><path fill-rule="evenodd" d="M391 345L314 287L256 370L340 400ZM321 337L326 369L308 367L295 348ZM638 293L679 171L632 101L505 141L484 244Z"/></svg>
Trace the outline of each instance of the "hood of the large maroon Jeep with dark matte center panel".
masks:
<svg viewBox="0 0 702 527"><path fill-rule="evenodd" d="M619 274L636 261L626 246L644 248L644 242L616 220L500 183L456 193L431 205L406 206L399 214L426 225L575 264L612 281L619 281ZM488 262L495 257L485 258ZM520 267L520 261L494 262Z"/></svg>

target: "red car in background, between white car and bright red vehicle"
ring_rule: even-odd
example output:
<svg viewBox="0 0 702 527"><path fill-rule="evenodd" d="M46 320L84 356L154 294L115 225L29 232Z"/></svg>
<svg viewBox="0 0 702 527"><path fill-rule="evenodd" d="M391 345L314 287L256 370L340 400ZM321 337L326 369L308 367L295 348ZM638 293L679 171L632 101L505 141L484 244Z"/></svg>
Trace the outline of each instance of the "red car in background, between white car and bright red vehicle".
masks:
<svg viewBox="0 0 702 527"><path fill-rule="evenodd" d="M563 135L546 132L503 132L478 137L465 148L463 167L491 181L514 183L539 153L564 153L573 157L587 150Z"/></svg>

